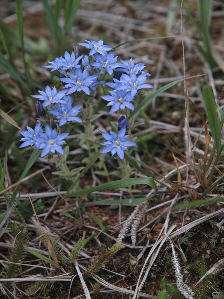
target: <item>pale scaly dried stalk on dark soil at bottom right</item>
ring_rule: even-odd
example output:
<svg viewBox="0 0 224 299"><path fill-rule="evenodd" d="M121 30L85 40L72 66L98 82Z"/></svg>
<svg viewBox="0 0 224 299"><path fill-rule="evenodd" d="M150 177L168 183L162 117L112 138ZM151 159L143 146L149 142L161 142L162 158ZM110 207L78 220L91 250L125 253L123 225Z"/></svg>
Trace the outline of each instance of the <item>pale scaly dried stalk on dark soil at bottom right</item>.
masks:
<svg viewBox="0 0 224 299"><path fill-rule="evenodd" d="M194 295L194 292L191 291L189 286L187 286L184 281L183 281L183 275L180 269L180 264L179 264L179 259L177 257L177 254L174 249L174 243L170 240L171 243L171 249L172 249L172 262L174 265L174 273L176 276L176 284L177 284L177 289L181 292L182 295L184 295L185 298L187 299L194 299L192 296Z"/></svg>

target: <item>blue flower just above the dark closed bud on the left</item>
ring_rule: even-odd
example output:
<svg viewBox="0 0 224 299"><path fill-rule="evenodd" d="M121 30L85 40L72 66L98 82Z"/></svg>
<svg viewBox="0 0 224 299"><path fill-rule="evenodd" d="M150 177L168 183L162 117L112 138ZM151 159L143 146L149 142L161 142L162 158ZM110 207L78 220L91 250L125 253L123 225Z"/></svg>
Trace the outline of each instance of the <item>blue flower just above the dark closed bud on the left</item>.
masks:
<svg viewBox="0 0 224 299"><path fill-rule="evenodd" d="M57 93L56 87L53 87L52 90L51 88L47 85L45 88L45 91L38 90L38 92L41 95L31 95L31 97L36 97L37 99L40 99L42 101L45 101L43 106L46 107L50 104L57 104L57 103L66 103L64 100L62 100L62 97L64 97L66 91L61 90Z"/></svg>

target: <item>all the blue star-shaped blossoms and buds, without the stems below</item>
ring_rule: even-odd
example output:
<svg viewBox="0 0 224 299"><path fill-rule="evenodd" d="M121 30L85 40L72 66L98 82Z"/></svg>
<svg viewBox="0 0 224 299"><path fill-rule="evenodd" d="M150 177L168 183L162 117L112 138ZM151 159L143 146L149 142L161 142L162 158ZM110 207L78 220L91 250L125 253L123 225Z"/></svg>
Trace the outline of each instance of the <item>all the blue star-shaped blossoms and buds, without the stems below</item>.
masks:
<svg viewBox="0 0 224 299"><path fill-rule="evenodd" d="M130 62L120 60L121 63L116 63L117 56L114 57L113 53L107 53L112 48L107 45L103 45L103 40L95 42L93 40L86 43L78 43L85 46L89 51L88 55L79 55L79 49L73 47L73 52L70 55L65 51L65 58L56 57L55 61L49 61L50 65L43 66L44 68L50 68L51 72L58 70L60 72L60 80L64 89L57 92L56 87L50 88L46 86L45 91L39 90L40 95L32 95L43 101L36 102L36 108L39 113L39 120L34 130L27 126L27 131L21 131L24 141L20 147L33 146L42 149L41 157L44 157L49 152L55 151L63 154L62 144L65 143L69 133L58 134L58 131L67 122L76 121L82 123L82 119L77 117L80 109L83 105L74 105L74 100L69 94L74 94L76 97L77 92L80 93L82 98L85 99L85 94L90 95L91 91L96 90L96 85L105 83L101 80L105 77L105 74L113 74L114 83L106 83L106 85L113 88L109 91L111 95L102 96L102 98L109 103L107 106L112 106L109 114L116 112L118 109L131 109L134 110L134 105L131 103L137 92L142 88L152 88L150 84L144 84L146 76L150 76L147 72L143 72L145 68L144 63L138 63L134 65L132 59ZM91 61L93 61L90 63ZM98 71L94 73L94 69ZM124 73L121 73L125 72ZM92 74L90 75L90 73ZM56 116L56 121L52 119L52 116ZM125 135L128 126L127 120L124 116L118 120L119 133L111 131L110 134L103 132L103 137L107 140L101 149L101 153L111 152L112 155L117 153L120 159L124 158L124 150L129 146L135 145L132 141L127 141L129 135ZM42 124L42 125L41 125ZM45 127L45 132L42 128ZM51 127L50 127L51 126Z"/></svg>

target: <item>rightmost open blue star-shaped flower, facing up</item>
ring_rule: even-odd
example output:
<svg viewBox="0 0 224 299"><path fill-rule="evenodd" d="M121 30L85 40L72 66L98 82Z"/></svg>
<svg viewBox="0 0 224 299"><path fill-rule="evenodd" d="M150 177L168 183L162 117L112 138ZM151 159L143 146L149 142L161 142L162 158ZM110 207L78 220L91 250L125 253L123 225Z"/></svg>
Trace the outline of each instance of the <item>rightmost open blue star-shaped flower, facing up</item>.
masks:
<svg viewBox="0 0 224 299"><path fill-rule="evenodd" d="M147 73L143 73L139 76L136 76L136 74L130 74L129 77L126 74L122 74L116 89L125 89L126 91L131 91L131 96L134 97L139 89L153 88L151 84L144 84L146 75Z"/></svg>

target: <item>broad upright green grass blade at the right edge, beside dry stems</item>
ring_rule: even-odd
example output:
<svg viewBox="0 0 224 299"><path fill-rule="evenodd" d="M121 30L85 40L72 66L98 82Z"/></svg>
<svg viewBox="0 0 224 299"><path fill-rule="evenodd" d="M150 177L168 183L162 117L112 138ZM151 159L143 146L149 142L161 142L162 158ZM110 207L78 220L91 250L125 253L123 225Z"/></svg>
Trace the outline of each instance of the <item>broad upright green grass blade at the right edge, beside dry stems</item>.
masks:
<svg viewBox="0 0 224 299"><path fill-rule="evenodd" d="M221 134L219 129L219 120L211 86L205 86L202 94L208 113L208 123L211 129L212 137L214 138L214 141L216 143L217 154L221 154Z"/></svg>

